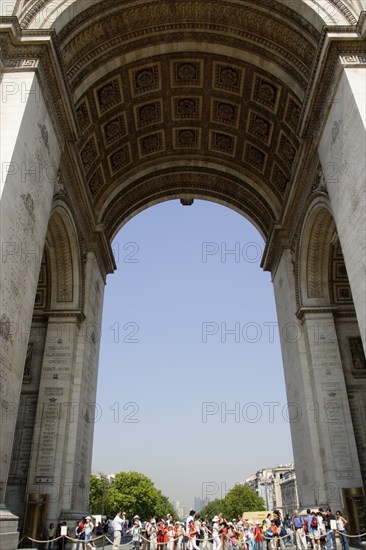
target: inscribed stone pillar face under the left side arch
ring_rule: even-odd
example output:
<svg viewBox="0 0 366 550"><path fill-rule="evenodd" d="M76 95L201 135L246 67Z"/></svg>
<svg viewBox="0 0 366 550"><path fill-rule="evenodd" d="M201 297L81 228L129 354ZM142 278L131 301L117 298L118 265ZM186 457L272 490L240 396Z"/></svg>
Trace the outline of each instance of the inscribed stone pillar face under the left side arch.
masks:
<svg viewBox="0 0 366 550"><path fill-rule="evenodd" d="M76 430L73 365L79 333L77 313L57 312L48 320L33 432L27 494L48 495L48 515L58 523L66 442Z"/></svg>

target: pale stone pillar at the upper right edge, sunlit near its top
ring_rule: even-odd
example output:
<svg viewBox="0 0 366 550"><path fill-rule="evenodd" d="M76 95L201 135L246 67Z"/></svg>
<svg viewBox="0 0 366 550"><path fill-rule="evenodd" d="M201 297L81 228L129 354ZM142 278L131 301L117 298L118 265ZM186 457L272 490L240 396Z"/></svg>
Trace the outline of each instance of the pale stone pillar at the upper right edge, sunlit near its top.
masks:
<svg viewBox="0 0 366 550"><path fill-rule="evenodd" d="M366 350L366 58L341 62L318 153Z"/></svg>

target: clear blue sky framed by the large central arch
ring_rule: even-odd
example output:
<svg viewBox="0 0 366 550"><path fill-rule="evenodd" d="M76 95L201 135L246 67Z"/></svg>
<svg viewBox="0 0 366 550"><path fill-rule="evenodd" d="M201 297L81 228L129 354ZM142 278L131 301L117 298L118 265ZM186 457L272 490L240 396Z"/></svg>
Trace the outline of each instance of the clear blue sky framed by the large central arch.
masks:
<svg viewBox="0 0 366 550"><path fill-rule="evenodd" d="M292 462L274 293L254 226L212 202L168 201L129 221L113 249L93 469L140 471L192 505Z"/></svg>

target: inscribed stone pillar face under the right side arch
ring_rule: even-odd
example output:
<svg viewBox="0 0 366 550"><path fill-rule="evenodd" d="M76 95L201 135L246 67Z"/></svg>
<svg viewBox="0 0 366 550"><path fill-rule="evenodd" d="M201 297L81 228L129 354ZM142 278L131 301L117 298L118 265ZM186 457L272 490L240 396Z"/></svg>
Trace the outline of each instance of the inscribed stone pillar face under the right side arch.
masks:
<svg viewBox="0 0 366 550"><path fill-rule="evenodd" d="M362 476L333 312L305 309L302 318L327 503L344 508L340 490L362 487Z"/></svg>

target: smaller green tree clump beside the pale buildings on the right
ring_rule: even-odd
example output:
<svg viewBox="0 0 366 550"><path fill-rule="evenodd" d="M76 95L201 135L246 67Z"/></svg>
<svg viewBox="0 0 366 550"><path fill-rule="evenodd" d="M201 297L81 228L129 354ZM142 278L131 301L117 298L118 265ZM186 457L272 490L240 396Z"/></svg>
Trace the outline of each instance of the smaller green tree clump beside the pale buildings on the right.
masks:
<svg viewBox="0 0 366 550"><path fill-rule="evenodd" d="M238 518L244 512L257 512L265 510L262 497L259 497L249 485L236 484L223 499L216 499L202 508L201 517L212 520L214 516L222 513L227 519Z"/></svg>

